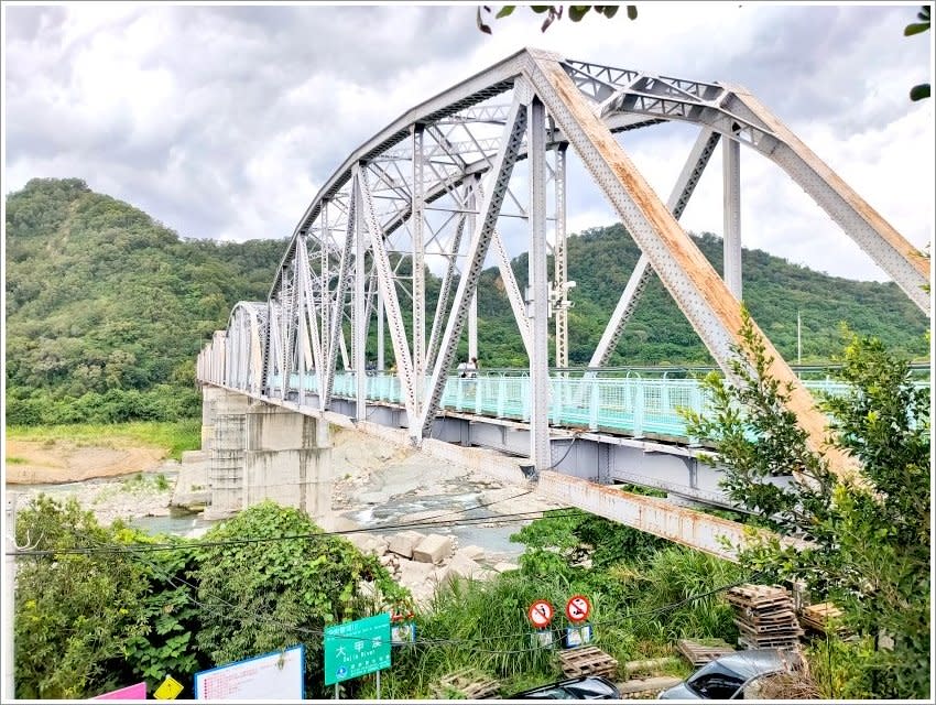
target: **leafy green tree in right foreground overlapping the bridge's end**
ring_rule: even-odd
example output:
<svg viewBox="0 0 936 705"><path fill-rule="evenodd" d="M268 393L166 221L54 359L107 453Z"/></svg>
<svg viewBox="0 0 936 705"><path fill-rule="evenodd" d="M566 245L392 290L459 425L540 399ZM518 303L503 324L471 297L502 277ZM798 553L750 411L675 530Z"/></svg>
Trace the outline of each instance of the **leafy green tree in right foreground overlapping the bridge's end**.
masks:
<svg viewBox="0 0 936 705"><path fill-rule="evenodd" d="M784 402L788 387L770 377L771 359L743 312L742 346L730 386L710 376L712 413L687 412L689 433L707 438L727 467L729 497L779 536L739 546L749 567L776 581L804 582L830 599L844 623L861 636L847 644L852 669L832 697L926 697L929 693L929 389L914 386L908 364L874 338L851 335L841 379L850 391L827 397L830 443L859 464L836 476L810 452ZM798 481L771 484L781 475ZM883 648L881 636L893 640Z"/></svg>

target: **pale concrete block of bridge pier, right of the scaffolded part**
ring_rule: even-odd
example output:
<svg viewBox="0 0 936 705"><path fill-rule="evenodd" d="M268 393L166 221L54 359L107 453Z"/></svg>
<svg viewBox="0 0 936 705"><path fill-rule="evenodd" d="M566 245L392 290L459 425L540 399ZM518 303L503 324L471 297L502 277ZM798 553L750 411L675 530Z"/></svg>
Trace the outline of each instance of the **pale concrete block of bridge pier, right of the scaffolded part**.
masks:
<svg viewBox="0 0 936 705"><path fill-rule="evenodd" d="M271 499L316 521L331 513L328 422L254 402L247 410L243 507Z"/></svg>

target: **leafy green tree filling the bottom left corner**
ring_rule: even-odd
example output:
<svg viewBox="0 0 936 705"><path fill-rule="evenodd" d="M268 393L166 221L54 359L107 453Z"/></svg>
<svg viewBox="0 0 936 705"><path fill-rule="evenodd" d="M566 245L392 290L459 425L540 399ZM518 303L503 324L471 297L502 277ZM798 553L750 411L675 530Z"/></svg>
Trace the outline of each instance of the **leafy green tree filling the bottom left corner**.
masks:
<svg viewBox="0 0 936 705"><path fill-rule="evenodd" d="M146 631L137 609L149 587L143 571L123 556L64 553L111 543L119 530L98 525L74 499L61 505L40 496L20 512L20 545L63 553L19 560L18 698L81 698L126 685L126 649Z"/></svg>

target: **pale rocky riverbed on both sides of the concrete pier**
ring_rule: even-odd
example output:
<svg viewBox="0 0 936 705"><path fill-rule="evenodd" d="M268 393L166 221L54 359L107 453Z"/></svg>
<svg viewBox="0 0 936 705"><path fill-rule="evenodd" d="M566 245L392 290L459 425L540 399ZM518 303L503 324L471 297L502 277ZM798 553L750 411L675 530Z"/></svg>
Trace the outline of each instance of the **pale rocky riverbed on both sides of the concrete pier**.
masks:
<svg viewBox="0 0 936 705"><path fill-rule="evenodd" d="M95 453L94 448L85 451L91 456ZM55 463L54 457L46 460ZM113 476L115 467L109 464L109 477L57 484L8 484L7 491L20 494L20 506L41 492L57 499L75 497L101 523L109 524L120 518L148 533L197 538L217 520L171 507L178 467L174 460L162 460L155 466L151 464L145 471L131 468L127 474ZM94 471L86 465L83 468L85 473ZM451 535L459 545L477 545L504 560L522 553L523 546L511 542L510 536L531 521L516 521L514 514L555 507L522 485L504 485L480 473L353 431L334 433L331 470L336 478L334 517L323 522L331 524L329 528L361 527L392 533L413 525L423 533ZM483 523L476 523L481 520Z"/></svg>

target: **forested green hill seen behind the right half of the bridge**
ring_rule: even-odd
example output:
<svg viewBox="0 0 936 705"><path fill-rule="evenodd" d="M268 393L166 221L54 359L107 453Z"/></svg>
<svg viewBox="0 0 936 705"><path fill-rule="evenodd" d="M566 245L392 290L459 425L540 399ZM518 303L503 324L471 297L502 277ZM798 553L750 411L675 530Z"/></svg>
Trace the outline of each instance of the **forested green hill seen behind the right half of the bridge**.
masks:
<svg viewBox="0 0 936 705"><path fill-rule="evenodd" d="M721 238L693 236L717 271L722 265ZM569 312L569 365L587 365L605 325L640 257L640 249L621 225L592 228L569 238L568 279L575 306ZM521 290L526 284L526 254L513 261ZM549 261L552 272L552 259ZM803 362L828 362L841 351L841 324L862 335L881 338L911 358L927 358L927 319L893 282L859 282L829 276L762 250L742 251L743 297L751 315L787 361L796 360L796 315L802 319ZM497 271L485 272L480 291L500 286ZM485 357L526 364L505 304L479 297L479 316L498 334L488 332L490 347L479 340ZM479 338L485 339L479 324ZM609 365L710 365L711 357L663 284L654 275L644 289L633 317L624 328Z"/></svg>

